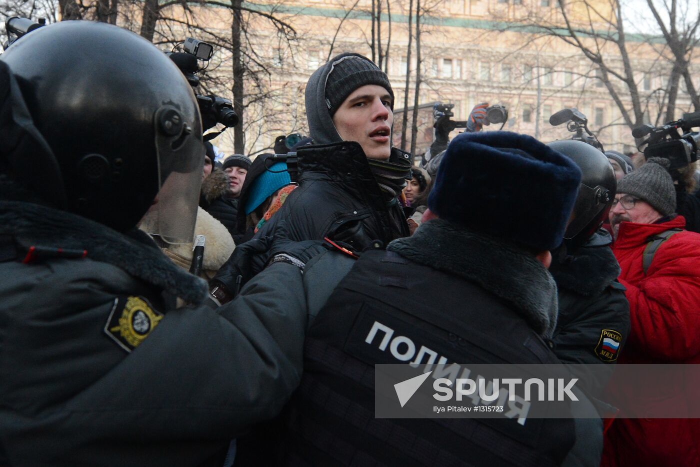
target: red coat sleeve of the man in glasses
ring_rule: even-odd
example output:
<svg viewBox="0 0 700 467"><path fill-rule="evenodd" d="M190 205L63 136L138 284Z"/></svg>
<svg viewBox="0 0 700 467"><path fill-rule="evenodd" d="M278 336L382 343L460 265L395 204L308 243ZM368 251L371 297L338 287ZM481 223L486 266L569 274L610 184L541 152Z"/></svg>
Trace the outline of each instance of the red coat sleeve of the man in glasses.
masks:
<svg viewBox="0 0 700 467"><path fill-rule="evenodd" d="M629 300L629 344L673 361L700 354L699 235L675 234L657 250L645 278L620 282Z"/></svg>

